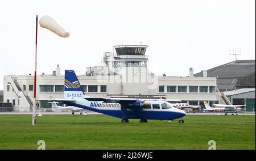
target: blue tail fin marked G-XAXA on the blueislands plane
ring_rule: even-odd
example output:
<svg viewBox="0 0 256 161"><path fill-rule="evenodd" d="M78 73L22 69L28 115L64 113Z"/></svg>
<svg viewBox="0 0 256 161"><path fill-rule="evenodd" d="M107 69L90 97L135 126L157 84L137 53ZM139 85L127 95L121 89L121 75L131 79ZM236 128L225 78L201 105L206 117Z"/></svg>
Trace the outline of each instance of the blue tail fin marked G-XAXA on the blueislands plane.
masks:
<svg viewBox="0 0 256 161"><path fill-rule="evenodd" d="M65 70L64 99L84 99L84 92L73 70Z"/></svg>

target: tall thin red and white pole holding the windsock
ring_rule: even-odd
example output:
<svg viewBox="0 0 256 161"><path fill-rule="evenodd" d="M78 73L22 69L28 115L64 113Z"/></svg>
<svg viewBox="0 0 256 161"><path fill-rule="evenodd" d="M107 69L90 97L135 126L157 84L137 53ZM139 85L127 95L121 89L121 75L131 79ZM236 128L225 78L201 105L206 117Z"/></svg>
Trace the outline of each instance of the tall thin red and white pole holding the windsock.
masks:
<svg viewBox="0 0 256 161"><path fill-rule="evenodd" d="M34 75L34 107L32 108L32 125L36 124L36 56L38 53L38 15L36 15L36 41L35 41L35 75Z"/></svg>

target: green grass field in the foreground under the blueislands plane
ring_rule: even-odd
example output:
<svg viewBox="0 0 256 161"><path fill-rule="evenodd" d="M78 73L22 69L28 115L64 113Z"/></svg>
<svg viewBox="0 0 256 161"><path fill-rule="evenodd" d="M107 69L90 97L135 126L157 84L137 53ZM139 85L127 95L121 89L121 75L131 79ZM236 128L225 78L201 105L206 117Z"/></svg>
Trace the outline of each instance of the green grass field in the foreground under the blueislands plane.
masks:
<svg viewBox="0 0 256 161"><path fill-rule="evenodd" d="M185 116L185 124L105 115L0 115L0 149L255 149L255 116Z"/></svg>

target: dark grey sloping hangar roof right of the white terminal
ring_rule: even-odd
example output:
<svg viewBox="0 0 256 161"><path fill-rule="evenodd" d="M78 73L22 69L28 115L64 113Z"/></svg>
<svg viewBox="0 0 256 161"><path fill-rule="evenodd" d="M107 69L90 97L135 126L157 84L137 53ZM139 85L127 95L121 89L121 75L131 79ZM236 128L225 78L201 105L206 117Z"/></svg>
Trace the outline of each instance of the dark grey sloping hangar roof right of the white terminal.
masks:
<svg viewBox="0 0 256 161"><path fill-rule="evenodd" d="M255 60L236 60L207 70L208 77L241 78L255 73ZM195 77L200 77L196 73Z"/></svg>

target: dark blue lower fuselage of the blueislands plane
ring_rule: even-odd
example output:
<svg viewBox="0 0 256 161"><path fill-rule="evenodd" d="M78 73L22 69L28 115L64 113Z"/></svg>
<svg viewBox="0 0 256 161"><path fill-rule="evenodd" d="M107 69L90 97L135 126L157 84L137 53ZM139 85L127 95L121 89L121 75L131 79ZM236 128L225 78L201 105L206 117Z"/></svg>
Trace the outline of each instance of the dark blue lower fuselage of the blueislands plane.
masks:
<svg viewBox="0 0 256 161"><path fill-rule="evenodd" d="M108 109L97 109L92 107L87 107L85 105L76 104L73 102L67 102L64 101L64 104L87 109L90 111L103 113L105 115L114 116L118 118L122 118L121 110L108 110ZM126 118L132 118L132 119L152 119L152 120L172 120L175 118L183 117L184 113L179 112L171 112L171 111L127 111L126 112Z"/></svg>

